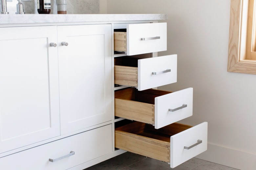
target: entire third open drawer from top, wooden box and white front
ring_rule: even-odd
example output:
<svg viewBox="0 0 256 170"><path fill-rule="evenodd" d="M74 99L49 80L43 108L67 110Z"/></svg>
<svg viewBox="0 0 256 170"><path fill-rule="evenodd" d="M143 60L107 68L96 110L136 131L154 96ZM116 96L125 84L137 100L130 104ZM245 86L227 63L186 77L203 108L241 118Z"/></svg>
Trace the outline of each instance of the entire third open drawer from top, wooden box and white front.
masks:
<svg viewBox="0 0 256 170"><path fill-rule="evenodd" d="M164 127L193 114L193 88L177 92L126 88L115 91L115 116Z"/></svg>

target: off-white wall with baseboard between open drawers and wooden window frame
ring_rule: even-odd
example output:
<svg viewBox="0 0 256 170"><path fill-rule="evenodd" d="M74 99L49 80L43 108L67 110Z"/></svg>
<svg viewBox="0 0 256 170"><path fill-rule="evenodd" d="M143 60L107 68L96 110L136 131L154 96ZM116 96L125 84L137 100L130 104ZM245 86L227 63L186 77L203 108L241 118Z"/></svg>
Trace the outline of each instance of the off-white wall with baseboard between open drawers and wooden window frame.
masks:
<svg viewBox="0 0 256 170"><path fill-rule="evenodd" d="M108 13L167 13L168 46L178 54L178 82L194 88L193 116L208 122L208 150L198 158L256 169L256 75L227 72L230 0L107 0Z"/></svg>

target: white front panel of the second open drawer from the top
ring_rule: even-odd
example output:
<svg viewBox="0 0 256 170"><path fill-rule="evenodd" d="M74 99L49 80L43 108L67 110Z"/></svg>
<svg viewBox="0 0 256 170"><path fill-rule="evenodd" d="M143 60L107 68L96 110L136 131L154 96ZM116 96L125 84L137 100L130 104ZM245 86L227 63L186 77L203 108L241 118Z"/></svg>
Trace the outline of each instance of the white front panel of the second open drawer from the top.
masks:
<svg viewBox="0 0 256 170"><path fill-rule="evenodd" d="M177 55L138 60L138 90L177 82Z"/></svg>

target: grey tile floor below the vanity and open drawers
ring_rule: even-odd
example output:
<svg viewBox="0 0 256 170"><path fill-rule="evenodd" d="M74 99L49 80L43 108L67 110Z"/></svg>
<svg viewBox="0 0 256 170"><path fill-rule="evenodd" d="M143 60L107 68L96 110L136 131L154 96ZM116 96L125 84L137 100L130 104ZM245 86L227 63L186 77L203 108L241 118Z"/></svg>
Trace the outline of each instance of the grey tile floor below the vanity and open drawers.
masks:
<svg viewBox="0 0 256 170"><path fill-rule="evenodd" d="M126 152L117 157L103 161L85 170L171 170L166 162ZM237 170L217 163L192 158L173 170Z"/></svg>

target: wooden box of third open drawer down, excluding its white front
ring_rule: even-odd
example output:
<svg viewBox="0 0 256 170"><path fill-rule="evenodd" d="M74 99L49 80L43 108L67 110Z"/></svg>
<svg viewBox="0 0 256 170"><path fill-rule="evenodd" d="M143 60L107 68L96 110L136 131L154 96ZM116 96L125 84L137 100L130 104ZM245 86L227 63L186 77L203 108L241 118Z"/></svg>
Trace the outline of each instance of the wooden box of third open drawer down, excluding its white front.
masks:
<svg viewBox="0 0 256 170"><path fill-rule="evenodd" d="M171 92L160 90L138 91L126 88L115 91L115 116L147 124L155 124L155 97Z"/></svg>

